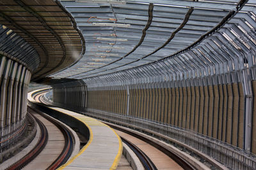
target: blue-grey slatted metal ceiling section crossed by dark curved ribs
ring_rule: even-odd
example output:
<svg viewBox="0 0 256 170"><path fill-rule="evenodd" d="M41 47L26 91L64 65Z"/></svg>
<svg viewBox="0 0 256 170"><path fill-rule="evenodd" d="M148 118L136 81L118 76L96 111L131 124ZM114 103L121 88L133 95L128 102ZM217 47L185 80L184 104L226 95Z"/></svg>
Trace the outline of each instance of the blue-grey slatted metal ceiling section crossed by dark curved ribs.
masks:
<svg viewBox="0 0 256 170"><path fill-rule="evenodd" d="M84 36L86 52L76 65L53 76L85 79L145 66L166 57L182 57L180 54L202 43L224 25L230 27L227 22L231 18L232 23L238 22L242 15L248 15L253 20L255 14L249 11L254 9L255 3L248 1L243 7L245 3L237 0L140 0L125 1L125 4L61 1ZM225 43L224 39L220 41ZM216 46L220 45L217 40L214 42ZM209 46L206 51L197 50L195 54L186 54L182 58L189 60L200 53L204 56L216 46ZM177 63L182 60L175 58ZM184 65L184 62L180 64ZM179 64L173 66L179 67Z"/></svg>

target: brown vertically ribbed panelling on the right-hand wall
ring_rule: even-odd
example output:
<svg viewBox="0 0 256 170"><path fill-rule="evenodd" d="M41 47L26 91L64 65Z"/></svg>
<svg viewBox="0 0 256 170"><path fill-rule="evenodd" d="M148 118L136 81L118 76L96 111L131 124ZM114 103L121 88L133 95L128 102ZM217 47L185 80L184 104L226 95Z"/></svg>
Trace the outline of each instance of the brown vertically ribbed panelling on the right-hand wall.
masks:
<svg viewBox="0 0 256 170"><path fill-rule="evenodd" d="M173 87L150 88L134 85L129 87L129 97L127 88L117 89L89 91L88 108L189 129L244 148L241 82L184 87L182 82L175 82Z"/></svg>

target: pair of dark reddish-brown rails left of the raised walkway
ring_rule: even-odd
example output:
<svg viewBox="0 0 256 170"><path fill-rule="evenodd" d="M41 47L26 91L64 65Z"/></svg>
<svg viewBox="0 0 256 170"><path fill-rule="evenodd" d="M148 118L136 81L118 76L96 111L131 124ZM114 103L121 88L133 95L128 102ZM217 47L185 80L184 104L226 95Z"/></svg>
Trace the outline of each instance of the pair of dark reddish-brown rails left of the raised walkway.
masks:
<svg viewBox="0 0 256 170"><path fill-rule="evenodd" d="M54 120L49 116L46 116L41 111L33 110L33 108L28 107L28 114L35 118L36 122L38 123L38 126L40 127L40 139L38 140L38 143L36 143L36 146L33 148L33 150L31 150L31 152L29 152L27 155L25 155L22 159L20 159L12 166L8 167L8 169L22 169L23 167L27 166L30 162L36 159L36 157L42 152L42 150L44 150L45 146L47 145L47 142L49 140L47 127L45 127L43 122L34 115L35 113L37 113L41 117L44 117L46 120L48 120L56 127L58 127L65 141L63 150L61 151L60 155L57 157L57 159L52 161L51 165L48 166L47 169L57 169L62 164L65 164L65 162L67 162L70 155L72 154L74 147L74 139L70 131L64 125L61 125L58 121Z"/></svg>

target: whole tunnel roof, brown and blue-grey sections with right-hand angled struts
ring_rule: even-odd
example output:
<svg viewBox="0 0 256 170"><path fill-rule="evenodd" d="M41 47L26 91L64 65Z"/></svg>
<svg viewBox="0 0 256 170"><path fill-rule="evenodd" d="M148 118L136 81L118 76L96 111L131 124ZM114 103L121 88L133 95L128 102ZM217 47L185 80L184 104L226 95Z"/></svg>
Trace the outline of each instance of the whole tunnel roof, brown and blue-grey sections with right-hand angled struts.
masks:
<svg viewBox="0 0 256 170"><path fill-rule="evenodd" d="M177 80L255 66L254 0L84 1L0 2L1 25L40 56L32 80Z"/></svg>

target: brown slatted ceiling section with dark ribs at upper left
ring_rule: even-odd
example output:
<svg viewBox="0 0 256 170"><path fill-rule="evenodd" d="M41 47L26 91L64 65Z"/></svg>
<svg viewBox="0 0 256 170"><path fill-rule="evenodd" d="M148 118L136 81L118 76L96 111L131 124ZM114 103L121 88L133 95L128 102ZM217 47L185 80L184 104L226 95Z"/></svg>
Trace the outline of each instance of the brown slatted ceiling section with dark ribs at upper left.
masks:
<svg viewBox="0 0 256 170"><path fill-rule="evenodd" d="M40 56L40 66L33 72L34 81L60 71L81 58L85 50L83 36L77 31L76 23L72 22L72 17L58 1L0 1L0 24L12 29ZM13 42L17 40L15 36L11 38ZM26 57L29 58L23 56Z"/></svg>

